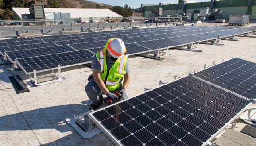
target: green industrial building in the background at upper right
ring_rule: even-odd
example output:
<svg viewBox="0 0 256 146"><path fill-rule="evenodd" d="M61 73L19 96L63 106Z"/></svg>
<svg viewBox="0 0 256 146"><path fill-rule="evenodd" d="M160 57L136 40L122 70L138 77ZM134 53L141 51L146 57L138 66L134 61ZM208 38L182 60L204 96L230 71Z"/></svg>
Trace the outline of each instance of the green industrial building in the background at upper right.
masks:
<svg viewBox="0 0 256 146"><path fill-rule="evenodd" d="M201 0L198 0L201 1ZM192 2L190 0L179 0L177 4L142 4L142 15L144 17L169 17L176 14L198 12L200 8L218 10L218 17L229 18L229 15L251 15L256 18L256 0L209 0L208 2Z"/></svg>

